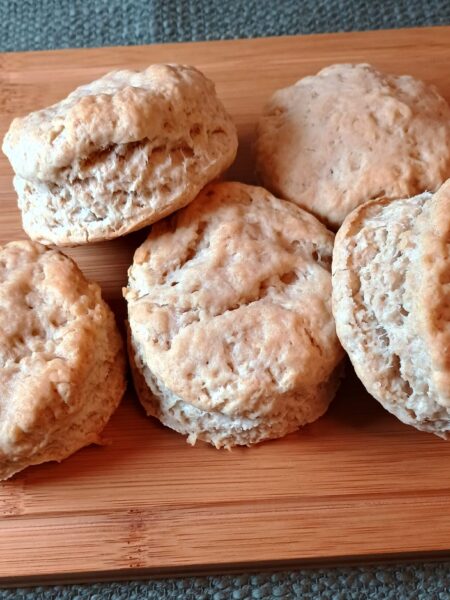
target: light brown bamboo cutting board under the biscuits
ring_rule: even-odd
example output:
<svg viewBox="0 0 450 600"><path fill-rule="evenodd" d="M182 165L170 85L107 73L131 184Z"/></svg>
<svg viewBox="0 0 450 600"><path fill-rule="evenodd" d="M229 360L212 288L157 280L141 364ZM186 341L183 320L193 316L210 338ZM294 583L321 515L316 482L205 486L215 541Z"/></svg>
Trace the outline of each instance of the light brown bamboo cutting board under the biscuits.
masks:
<svg viewBox="0 0 450 600"><path fill-rule="evenodd" d="M0 55L0 136L10 120L116 68L198 66L240 133L230 178L251 182L251 141L278 87L367 61L450 100L450 27ZM121 286L145 234L71 250L123 316ZM23 238L0 157L0 242ZM140 575L442 556L450 550L450 443L385 413L349 376L330 411L286 438L217 451L147 419L129 392L111 445L0 485L0 581Z"/></svg>

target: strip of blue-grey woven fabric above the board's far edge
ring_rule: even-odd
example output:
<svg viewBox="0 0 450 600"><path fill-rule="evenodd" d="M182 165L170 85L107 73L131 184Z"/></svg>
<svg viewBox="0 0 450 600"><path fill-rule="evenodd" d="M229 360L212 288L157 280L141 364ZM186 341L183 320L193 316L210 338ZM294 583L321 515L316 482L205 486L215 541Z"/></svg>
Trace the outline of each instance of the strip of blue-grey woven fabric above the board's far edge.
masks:
<svg viewBox="0 0 450 600"><path fill-rule="evenodd" d="M449 0L0 0L0 50L117 46L449 22Z"/></svg>

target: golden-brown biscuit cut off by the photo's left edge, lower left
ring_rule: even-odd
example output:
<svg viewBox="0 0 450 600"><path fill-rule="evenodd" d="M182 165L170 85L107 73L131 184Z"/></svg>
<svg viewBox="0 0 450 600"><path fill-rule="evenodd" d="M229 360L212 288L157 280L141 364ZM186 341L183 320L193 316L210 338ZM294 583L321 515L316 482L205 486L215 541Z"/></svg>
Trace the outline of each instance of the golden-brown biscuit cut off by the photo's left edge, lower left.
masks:
<svg viewBox="0 0 450 600"><path fill-rule="evenodd" d="M125 388L96 283L56 250L0 248L0 479L99 441Z"/></svg>

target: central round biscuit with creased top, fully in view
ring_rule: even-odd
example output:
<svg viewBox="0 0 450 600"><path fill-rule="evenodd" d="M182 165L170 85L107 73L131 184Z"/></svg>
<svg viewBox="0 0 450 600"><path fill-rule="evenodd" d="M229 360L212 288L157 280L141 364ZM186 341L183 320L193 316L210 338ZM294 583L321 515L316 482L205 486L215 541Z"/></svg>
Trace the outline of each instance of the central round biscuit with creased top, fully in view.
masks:
<svg viewBox="0 0 450 600"><path fill-rule="evenodd" d="M263 188L207 186L155 225L129 270L130 358L148 414L217 448L327 409L343 352L333 234Z"/></svg>

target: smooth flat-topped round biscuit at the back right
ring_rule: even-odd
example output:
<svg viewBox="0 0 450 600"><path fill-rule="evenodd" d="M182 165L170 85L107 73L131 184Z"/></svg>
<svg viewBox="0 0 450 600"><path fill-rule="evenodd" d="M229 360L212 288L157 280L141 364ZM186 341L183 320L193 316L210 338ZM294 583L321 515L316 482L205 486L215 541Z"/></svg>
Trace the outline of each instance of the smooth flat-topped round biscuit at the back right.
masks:
<svg viewBox="0 0 450 600"><path fill-rule="evenodd" d="M450 177L450 107L413 77L333 65L275 92L256 154L268 189L338 228L367 200L434 191Z"/></svg>

